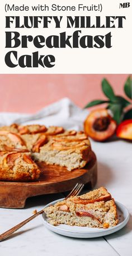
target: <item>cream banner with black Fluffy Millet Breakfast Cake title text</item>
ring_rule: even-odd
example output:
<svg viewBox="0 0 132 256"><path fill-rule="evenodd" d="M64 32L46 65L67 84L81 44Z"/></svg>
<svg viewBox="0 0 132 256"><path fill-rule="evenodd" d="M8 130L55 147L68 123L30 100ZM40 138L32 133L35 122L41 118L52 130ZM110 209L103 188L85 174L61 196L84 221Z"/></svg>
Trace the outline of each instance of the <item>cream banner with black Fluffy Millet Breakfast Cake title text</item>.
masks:
<svg viewBox="0 0 132 256"><path fill-rule="evenodd" d="M130 74L131 4L1 1L1 74Z"/></svg>

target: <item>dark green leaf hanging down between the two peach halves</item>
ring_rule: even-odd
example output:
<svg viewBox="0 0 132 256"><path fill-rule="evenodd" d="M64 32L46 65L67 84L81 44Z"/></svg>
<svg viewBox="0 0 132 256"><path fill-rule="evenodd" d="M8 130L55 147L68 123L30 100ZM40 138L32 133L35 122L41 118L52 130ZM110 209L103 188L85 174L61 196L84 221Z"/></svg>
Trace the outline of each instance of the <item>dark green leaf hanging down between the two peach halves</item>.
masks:
<svg viewBox="0 0 132 256"><path fill-rule="evenodd" d="M111 110L114 120L117 122L117 124L120 124L122 117L122 106L120 104L112 103L108 108Z"/></svg>

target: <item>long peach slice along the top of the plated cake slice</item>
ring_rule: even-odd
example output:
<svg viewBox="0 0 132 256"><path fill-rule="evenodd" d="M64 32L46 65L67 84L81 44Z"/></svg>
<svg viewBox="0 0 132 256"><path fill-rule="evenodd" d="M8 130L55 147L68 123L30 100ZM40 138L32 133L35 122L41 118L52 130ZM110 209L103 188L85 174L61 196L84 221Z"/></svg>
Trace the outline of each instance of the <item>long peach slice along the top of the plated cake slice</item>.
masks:
<svg viewBox="0 0 132 256"><path fill-rule="evenodd" d="M72 200L73 203L76 204L91 204L94 202L101 202L101 201L108 201L111 199L111 195L102 195L100 196L100 198L96 198L96 199L81 199L81 198L71 198L70 200Z"/></svg>

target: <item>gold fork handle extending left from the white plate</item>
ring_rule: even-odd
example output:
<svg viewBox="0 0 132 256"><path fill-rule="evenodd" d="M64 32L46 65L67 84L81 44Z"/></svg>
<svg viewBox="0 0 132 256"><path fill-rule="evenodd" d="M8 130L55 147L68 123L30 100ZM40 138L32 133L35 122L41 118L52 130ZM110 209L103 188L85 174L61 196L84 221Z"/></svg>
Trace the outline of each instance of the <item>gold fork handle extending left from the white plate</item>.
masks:
<svg viewBox="0 0 132 256"><path fill-rule="evenodd" d="M15 231L17 231L20 227L24 226L26 223L28 223L29 221L33 220L34 218L36 218L37 216L39 216L40 214L42 214L44 212L44 210L41 210L37 213L35 213L34 215L32 215L31 217L27 218L25 221L22 221L21 223L19 223L18 225L10 228L10 230L7 230L6 232L4 232L3 234L0 235L0 241L6 239L8 236L11 236Z"/></svg>

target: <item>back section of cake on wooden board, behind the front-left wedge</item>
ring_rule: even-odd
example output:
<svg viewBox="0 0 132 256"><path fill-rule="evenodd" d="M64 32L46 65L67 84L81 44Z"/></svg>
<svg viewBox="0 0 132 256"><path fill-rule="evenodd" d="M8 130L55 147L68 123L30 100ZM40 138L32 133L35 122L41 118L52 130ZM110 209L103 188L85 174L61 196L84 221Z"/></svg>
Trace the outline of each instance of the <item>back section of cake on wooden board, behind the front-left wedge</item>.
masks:
<svg viewBox="0 0 132 256"><path fill-rule="evenodd" d="M35 161L56 164L72 171L91 160L91 144L84 132L60 126L17 125L0 128L0 150L31 152Z"/></svg>

